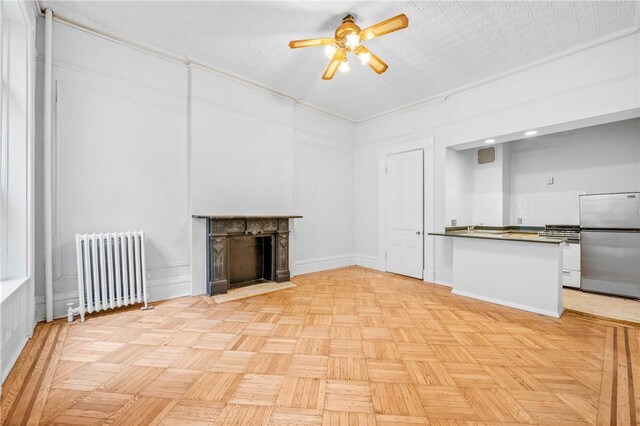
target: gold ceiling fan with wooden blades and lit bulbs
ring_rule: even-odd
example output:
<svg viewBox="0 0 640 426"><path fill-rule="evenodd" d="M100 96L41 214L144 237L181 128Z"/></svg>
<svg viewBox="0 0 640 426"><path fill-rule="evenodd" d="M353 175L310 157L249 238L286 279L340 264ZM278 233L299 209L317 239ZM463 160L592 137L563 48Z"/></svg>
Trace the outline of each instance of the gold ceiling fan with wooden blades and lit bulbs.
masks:
<svg viewBox="0 0 640 426"><path fill-rule="evenodd" d="M387 70L387 64L364 47L362 42L408 26L409 18L405 14L401 14L361 30L356 25L353 15L348 14L342 18L342 24L336 28L334 38L293 40L289 43L289 47L298 49L301 47L326 46L325 53L331 59L331 62L329 62L329 66L322 75L323 80L331 80L338 69L343 72L349 71L347 53L350 52L354 52L358 56L362 65L368 64L376 73L382 74Z"/></svg>

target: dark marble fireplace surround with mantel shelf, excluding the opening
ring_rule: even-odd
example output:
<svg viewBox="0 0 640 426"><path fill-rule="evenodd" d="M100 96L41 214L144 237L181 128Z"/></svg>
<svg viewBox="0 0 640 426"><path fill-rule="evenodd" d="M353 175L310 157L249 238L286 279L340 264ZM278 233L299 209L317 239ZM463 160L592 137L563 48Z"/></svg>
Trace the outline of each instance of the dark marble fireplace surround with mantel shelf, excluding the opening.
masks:
<svg viewBox="0 0 640 426"><path fill-rule="evenodd" d="M230 288L229 238L235 236L273 237L275 282L289 281L289 221L297 215L204 216L207 220L207 293L224 294Z"/></svg>

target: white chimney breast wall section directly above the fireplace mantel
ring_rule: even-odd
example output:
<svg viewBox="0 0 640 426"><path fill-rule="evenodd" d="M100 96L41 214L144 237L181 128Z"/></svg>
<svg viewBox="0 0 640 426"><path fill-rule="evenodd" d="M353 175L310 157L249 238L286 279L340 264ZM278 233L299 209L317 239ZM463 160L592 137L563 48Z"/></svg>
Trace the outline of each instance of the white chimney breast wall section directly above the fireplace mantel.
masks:
<svg viewBox="0 0 640 426"><path fill-rule="evenodd" d="M291 214L293 104L192 72L191 211Z"/></svg>

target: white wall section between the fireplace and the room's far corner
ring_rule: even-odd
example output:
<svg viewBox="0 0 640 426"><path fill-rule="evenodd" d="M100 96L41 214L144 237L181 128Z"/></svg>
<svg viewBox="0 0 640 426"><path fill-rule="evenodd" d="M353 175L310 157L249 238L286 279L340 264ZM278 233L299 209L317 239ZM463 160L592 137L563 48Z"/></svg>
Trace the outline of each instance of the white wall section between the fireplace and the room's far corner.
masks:
<svg viewBox="0 0 640 426"><path fill-rule="evenodd" d="M293 273L353 265L351 123L294 109Z"/></svg>

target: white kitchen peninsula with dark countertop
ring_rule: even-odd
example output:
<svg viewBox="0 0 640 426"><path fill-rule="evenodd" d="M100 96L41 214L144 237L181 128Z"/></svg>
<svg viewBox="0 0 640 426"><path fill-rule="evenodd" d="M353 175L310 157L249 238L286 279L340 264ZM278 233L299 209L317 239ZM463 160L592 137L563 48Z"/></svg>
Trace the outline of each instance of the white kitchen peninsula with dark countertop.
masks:
<svg viewBox="0 0 640 426"><path fill-rule="evenodd" d="M535 232L453 229L452 293L552 317L562 315L564 238Z"/></svg>

